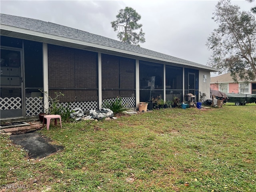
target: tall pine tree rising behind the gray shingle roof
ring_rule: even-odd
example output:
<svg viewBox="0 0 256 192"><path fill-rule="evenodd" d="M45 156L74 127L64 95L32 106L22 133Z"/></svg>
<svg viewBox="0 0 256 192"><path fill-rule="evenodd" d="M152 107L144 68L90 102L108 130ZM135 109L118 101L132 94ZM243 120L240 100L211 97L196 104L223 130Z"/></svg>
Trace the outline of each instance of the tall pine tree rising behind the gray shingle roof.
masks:
<svg viewBox="0 0 256 192"><path fill-rule="evenodd" d="M141 16L131 7L126 7L118 11L117 20L112 21L111 25L114 31L118 31L118 38L122 42L138 45L139 42L144 43L145 33L142 32L142 24L138 24ZM136 31L139 32L137 33ZM139 46L139 45L138 45Z"/></svg>

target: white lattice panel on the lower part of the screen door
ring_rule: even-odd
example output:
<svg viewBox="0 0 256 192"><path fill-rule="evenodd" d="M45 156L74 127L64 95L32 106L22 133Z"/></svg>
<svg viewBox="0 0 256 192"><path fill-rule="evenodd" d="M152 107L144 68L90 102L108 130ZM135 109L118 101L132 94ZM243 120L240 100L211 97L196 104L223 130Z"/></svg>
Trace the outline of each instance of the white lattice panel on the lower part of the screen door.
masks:
<svg viewBox="0 0 256 192"><path fill-rule="evenodd" d="M6 109L21 109L21 98L20 97L4 97L0 98L0 109L6 110Z"/></svg>

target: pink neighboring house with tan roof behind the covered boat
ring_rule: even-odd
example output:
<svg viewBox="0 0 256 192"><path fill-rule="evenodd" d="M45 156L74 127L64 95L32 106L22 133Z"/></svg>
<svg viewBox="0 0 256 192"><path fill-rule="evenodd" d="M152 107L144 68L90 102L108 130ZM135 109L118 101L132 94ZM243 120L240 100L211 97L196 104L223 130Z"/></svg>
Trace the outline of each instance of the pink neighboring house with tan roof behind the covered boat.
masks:
<svg viewBox="0 0 256 192"><path fill-rule="evenodd" d="M236 83L230 73L227 73L211 77L210 88L224 93L256 94L256 79L245 83L238 78L238 82Z"/></svg>

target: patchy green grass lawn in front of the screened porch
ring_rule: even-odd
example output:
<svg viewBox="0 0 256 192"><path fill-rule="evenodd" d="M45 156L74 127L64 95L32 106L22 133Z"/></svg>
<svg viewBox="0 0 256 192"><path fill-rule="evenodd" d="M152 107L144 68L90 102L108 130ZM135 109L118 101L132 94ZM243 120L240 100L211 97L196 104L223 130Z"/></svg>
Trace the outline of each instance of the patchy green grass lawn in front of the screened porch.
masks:
<svg viewBox="0 0 256 192"><path fill-rule="evenodd" d="M256 191L256 105L154 110L41 130L64 150L29 159L1 135L0 184L16 191ZM6 190L8 191L8 190ZM9 190L10 191L10 190ZM12 188L12 191L14 189Z"/></svg>

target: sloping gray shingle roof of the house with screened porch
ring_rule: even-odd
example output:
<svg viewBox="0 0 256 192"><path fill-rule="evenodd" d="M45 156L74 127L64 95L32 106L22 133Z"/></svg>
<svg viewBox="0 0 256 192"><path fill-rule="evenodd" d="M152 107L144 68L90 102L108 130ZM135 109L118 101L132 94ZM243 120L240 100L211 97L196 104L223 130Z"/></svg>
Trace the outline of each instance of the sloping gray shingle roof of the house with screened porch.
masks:
<svg viewBox="0 0 256 192"><path fill-rule="evenodd" d="M73 40L79 40L82 42L88 42L96 45L108 46L110 48L116 48L119 50L125 50L129 52L134 52L138 54L143 54L146 56L153 56L160 59L166 59L176 62L182 62L186 65L195 65L199 68L208 68L214 70L214 68L210 68L208 66L198 64L195 62L191 62L188 60L184 60L181 58L173 57L167 54L162 54L159 52L155 52L152 50L148 50L142 47L126 44L117 40L113 40L110 38L106 38L104 36L92 34L86 31L70 28L67 26L62 26L59 24L54 24L51 22L45 22L42 20L36 20L31 18L25 18L20 16L13 16L7 14L0 15L0 23L6 26L12 26L16 28L26 29L30 31L45 33L49 35L59 36L63 38L69 38Z"/></svg>

